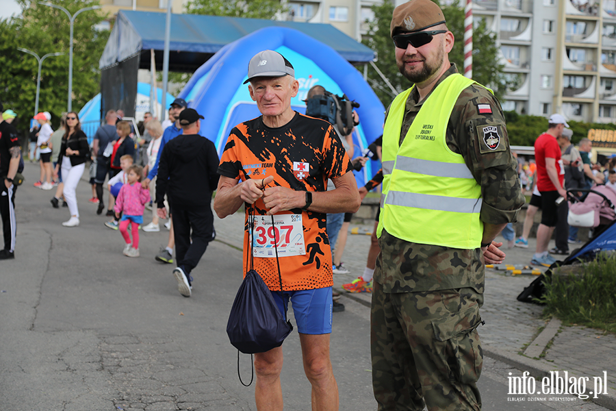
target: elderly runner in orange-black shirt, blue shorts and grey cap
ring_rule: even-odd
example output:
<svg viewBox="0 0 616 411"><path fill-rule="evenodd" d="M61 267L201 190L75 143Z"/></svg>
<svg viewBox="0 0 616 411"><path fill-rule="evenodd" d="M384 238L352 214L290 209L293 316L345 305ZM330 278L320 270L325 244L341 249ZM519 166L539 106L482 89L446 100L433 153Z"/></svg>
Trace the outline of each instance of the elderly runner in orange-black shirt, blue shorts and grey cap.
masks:
<svg viewBox="0 0 616 411"><path fill-rule="evenodd" d="M333 279L325 216L359 209L357 183L333 127L291 108L299 84L290 62L275 51L261 51L248 65L246 82L262 116L231 130L218 167L214 210L224 218L246 204L244 261L252 248L255 270L281 312L289 299L292 302L304 371L312 385L312 409L337 410L338 388L329 358ZM334 190L326 191L328 178ZM251 215L257 223L249 247ZM271 216L280 227L279 249L287 249L279 256L284 292L277 291L277 258L270 258L267 251L272 249L266 248L273 245L276 231L267 229ZM282 347L255 354L257 410L283 410L282 364Z"/></svg>

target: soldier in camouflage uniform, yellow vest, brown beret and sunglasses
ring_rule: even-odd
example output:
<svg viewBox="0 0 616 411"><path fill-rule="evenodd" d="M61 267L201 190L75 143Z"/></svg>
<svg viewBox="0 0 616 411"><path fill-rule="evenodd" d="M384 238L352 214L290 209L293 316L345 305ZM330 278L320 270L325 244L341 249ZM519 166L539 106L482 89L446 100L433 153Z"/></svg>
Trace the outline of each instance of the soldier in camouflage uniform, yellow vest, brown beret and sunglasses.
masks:
<svg viewBox="0 0 616 411"><path fill-rule="evenodd" d="M502 109L449 61L454 36L430 0L393 13L400 73L389 107L371 350L378 410L479 410L484 262L524 204Z"/></svg>

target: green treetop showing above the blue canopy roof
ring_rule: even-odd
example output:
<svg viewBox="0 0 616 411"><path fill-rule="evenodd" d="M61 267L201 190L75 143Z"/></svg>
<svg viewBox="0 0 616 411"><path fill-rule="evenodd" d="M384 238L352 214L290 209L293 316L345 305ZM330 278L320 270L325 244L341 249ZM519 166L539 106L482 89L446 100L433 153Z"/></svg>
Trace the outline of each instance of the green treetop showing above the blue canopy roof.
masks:
<svg viewBox="0 0 616 411"><path fill-rule="evenodd" d="M287 7L279 0L192 0L186 4L188 14L265 18L272 20Z"/></svg>

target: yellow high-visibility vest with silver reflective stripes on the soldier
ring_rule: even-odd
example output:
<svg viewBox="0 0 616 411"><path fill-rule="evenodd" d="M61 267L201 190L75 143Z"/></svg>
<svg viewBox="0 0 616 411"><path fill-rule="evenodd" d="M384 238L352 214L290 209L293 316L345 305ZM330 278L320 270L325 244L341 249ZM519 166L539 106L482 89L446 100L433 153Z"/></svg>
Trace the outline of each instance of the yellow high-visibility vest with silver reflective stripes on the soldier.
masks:
<svg viewBox="0 0 616 411"><path fill-rule="evenodd" d="M444 79L422 104L400 146L405 103L412 88L394 99L383 130L379 237L385 228L409 242L480 247L481 187L462 155L447 147L445 138L460 93L473 83L460 74Z"/></svg>

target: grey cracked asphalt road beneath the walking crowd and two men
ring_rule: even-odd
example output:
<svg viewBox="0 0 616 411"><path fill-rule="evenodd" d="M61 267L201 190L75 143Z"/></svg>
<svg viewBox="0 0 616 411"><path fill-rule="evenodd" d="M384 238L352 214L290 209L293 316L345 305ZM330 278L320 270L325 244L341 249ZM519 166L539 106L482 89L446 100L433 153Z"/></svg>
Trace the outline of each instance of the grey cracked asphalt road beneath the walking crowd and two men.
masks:
<svg viewBox="0 0 616 411"><path fill-rule="evenodd" d="M67 228L68 209L51 208L52 192L31 186L37 174L27 164L17 192L16 259L0 262L0 410L255 410L254 388L238 381L237 351L225 333L241 251L211 243L193 272L193 296L183 298L172 266L153 259L165 229L141 233L142 257L127 258L119 232L104 227L105 217L87 202L85 180L77 189L81 225ZM224 225L217 229L224 237ZM331 335L340 410L375 410L369 310L346 297L344 303ZM285 409L309 410L296 332L283 349ZM248 356L240 369L249 380ZM602 410L580 400L508 401L509 372L522 374L486 360L484 410Z"/></svg>

